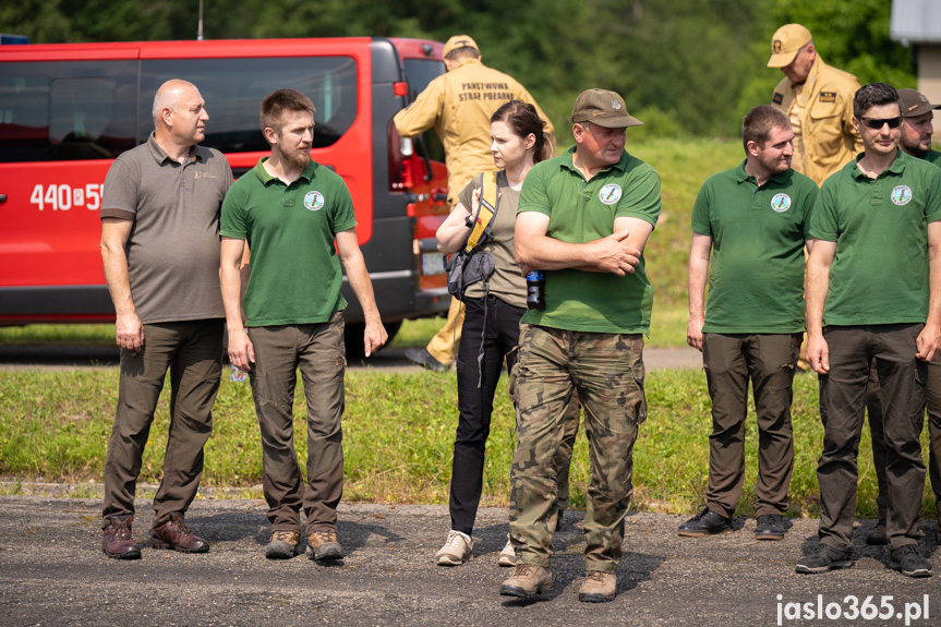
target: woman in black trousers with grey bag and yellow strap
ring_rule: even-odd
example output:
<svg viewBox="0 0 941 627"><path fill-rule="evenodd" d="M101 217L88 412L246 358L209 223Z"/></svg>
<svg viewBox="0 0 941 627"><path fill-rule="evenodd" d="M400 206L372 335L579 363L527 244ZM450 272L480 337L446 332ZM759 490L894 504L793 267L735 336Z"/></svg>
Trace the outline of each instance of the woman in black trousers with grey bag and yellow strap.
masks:
<svg viewBox="0 0 941 627"><path fill-rule="evenodd" d="M459 418L449 497L451 530L435 555L442 566L457 566L473 554L471 533L482 491L494 394L504 359L507 371L512 371L516 362L512 349L519 343L519 321L526 312L526 279L520 275L514 249L519 193L529 170L555 156L544 128L545 122L532 105L510 100L497 109L491 118L491 152L499 169L495 181L492 173L475 177L460 193L460 202L436 233L438 250L444 254L472 249L451 262L467 262L463 272L458 268L466 284L459 298L467 312L456 359ZM496 194L492 191L494 182ZM486 220L490 208L496 212L488 230L483 231L486 224L474 230L479 219ZM472 233L473 238L481 237L475 246L468 246ZM577 411L578 405L574 405ZM575 429L578 429L577 414ZM569 457L570 449L565 459L566 485ZM512 547L507 544L499 563L512 566L514 560Z"/></svg>

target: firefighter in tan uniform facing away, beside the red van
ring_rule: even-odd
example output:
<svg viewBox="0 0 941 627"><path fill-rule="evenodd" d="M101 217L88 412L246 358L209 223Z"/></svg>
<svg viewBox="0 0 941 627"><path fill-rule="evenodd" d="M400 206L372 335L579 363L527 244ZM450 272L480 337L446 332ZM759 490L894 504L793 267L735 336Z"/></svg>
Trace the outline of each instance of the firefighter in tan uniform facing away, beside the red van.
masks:
<svg viewBox="0 0 941 627"><path fill-rule="evenodd" d="M522 100L535 107L545 120L545 132L553 142L554 130L526 87L512 76L481 63L480 48L467 35L456 35L442 51L447 72L429 83L414 103L394 119L402 137L414 137L435 128L445 148L448 168L448 205L481 172L494 169L490 146L490 119L500 105ZM409 349L406 357L434 371L444 372L454 361L460 339L463 310L451 300L445 326L423 349Z"/></svg>

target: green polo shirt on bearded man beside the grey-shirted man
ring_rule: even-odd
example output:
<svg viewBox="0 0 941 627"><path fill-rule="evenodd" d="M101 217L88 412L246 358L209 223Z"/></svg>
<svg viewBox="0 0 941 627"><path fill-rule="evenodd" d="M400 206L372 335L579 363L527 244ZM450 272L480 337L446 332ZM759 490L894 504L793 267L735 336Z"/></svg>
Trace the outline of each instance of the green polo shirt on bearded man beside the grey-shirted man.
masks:
<svg viewBox="0 0 941 627"><path fill-rule="evenodd" d="M252 251L246 326L316 324L347 306L335 236L357 226L343 180L314 161L290 185L261 159L232 184L219 232Z"/></svg>

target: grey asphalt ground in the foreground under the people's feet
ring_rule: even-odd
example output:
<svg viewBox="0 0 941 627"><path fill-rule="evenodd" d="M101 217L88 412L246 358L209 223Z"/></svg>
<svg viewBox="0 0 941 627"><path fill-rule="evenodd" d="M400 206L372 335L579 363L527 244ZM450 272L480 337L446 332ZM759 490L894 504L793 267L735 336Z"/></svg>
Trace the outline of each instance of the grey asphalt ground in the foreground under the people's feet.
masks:
<svg viewBox="0 0 941 627"><path fill-rule="evenodd" d="M152 548L149 502L136 507L143 557L116 560L100 551L99 499L0 496L0 625L941 624L938 579L903 577L885 547L865 545L873 521L860 521L852 568L797 575L795 562L817 546L817 520L789 520L784 540L769 542L755 540L749 519L736 519L733 532L684 539L676 528L686 517L631 514L617 596L588 604L578 601L580 511L566 513L555 536L551 591L516 600L498 594L511 570L497 566L504 509L480 511L472 560L441 567L433 556L449 527L444 506L341 504L347 556L333 566L304 555L265 559L269 526L261 501L197 499L188 522L212 542L202 555ZM939 571L933 521L921 530L919 548ZM862 612L855 618L854 607ZM788 619L795 612L813 617ZM864 618L870 614L886 618Z"/></svg>

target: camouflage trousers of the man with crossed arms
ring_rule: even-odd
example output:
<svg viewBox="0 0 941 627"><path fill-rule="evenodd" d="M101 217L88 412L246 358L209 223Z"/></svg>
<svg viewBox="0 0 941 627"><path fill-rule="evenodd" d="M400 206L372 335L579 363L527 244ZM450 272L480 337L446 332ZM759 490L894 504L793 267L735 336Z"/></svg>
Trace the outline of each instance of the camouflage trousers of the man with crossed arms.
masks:
<svg viewBox="0 0 941 627"><path fill-rule="evenodd" d="M515 370L517 446L510 468L510 541L517 564L550 566L558 508L556 458L566 408L584 410L591 477L584 516L588 570L614 572L634 494L634 443L647 418L643 338L522 325Z"/></svg>

